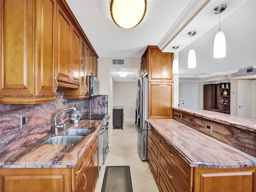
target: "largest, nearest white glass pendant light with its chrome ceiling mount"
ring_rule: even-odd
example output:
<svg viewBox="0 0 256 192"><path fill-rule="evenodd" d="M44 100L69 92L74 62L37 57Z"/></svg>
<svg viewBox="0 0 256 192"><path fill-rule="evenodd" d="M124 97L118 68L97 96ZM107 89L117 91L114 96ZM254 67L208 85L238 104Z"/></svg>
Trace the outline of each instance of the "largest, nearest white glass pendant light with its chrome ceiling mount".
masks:
<svg viewBox="0 0 256 192"><path fill-rule="evenodd" d="M224 32L220 30L220 13L222 13L226 9L226 7L226 5L219 5L212 10L213 13L219 14L219 31L214 37L214 58L226 57L226 37Z"/></svg>

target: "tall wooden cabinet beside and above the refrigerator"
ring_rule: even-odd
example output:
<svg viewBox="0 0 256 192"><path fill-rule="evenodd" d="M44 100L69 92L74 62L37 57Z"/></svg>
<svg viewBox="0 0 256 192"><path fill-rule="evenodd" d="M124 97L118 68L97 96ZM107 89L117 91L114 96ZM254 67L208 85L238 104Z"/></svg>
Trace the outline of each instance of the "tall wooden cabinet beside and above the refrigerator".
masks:
<svg viewBox="0 0 256 192"><path fill-rule="evenodd" d="M141 59L141 75L148 74L148 118L172 118L173 53L148 46ZM164 94L163 94L164 93Z"/></svg>

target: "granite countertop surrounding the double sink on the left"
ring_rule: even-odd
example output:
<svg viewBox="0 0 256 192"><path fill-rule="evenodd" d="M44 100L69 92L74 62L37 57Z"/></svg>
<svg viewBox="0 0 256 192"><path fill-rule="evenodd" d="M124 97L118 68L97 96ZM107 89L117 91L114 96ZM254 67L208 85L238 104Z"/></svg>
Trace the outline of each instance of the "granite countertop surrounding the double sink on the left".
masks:
<svg viewBox="0 0 256 192"><path fill-rule="evenodd" d="M91 128L92 130L82 142L72 145L42 144L44 140L54 136L54 134L49 135L29 146L22 147L14 154L1 156L0 168L74 168L94 136L98 134L102 124L103 120L80 120L78 126L68 124L66 130L70 128Z"/></svg>

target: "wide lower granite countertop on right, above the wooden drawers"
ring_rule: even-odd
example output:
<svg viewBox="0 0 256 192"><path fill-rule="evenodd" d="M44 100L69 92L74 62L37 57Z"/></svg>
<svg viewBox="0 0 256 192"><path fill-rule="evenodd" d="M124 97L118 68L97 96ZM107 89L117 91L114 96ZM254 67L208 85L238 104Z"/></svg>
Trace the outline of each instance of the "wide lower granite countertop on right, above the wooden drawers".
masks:
<svg viewBox="0 0 256 192"><path fill-rule="evenodd" d="M192 167L239 168L256 158L174 119L148 119L159 134Z"/></svg>

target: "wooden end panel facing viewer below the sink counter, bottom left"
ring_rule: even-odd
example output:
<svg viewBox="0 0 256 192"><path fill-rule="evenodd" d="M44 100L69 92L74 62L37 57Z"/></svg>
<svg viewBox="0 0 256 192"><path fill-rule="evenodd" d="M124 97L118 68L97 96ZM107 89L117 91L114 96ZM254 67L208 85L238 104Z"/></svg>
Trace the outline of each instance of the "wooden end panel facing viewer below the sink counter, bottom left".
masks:
<svg viewBox="0 0 256 192"><path fill-rule="evenodd" d="M70 191L69 168L1 169L1 192Z"/></svg>

